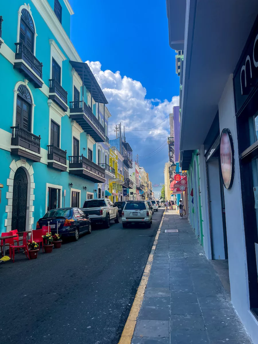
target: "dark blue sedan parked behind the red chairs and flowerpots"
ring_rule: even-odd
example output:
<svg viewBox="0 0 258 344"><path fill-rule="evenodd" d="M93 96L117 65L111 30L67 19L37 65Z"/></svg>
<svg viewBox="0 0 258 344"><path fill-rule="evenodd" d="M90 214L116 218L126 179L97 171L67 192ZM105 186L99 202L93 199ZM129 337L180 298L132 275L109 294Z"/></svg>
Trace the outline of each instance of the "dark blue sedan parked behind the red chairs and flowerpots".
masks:
<svg viewBox="0 0 258 344"><path fill-rule="evenodd" d="M56 234L58 222L58 234L65 237L79 239L79 235L88 232L92 233L90 219L79 208L57 208L49 210L42 218L37 221L36 229L50 224L52 235Z"/></svg>

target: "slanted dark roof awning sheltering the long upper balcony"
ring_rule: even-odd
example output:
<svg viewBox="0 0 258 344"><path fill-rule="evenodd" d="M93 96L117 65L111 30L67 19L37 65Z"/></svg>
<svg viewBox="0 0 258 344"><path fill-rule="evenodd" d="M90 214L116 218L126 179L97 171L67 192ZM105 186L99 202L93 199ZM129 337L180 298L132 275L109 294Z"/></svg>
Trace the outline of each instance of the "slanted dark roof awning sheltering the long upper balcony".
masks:
<svg viewBox="0 0 258 344"><path fill-rule="evenodd" d="M87 63L84 62L76 62L76 61L69 61L71 66L75 69L75 71L79 74L80 78L83 80L85 87L89 92L92 90L92 97L96 101L96 103L103 103L108 104L102 89L100 88L95 76L93 75L90 67Z"/></svg>

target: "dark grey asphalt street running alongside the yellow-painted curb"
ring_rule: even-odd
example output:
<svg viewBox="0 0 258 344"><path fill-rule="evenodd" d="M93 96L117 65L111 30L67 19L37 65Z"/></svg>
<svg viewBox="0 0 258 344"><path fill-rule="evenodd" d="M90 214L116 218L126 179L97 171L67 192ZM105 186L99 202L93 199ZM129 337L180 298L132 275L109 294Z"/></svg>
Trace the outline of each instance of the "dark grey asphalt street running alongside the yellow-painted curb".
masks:
<svg viewBox="0 0 258 344"><path fill-rule="evenodd" d="M157 233L96 229L52 254L0 264L1 344L117 344Z"/></svg>

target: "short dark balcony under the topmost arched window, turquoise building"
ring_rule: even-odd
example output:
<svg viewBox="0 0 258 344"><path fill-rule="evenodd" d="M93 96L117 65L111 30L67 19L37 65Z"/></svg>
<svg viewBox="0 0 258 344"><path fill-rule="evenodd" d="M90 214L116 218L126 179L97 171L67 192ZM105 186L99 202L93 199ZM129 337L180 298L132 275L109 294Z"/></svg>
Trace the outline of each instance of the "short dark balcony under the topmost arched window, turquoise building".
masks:
<svg viewBox="0 0 258 344"><path fill-rule="evenodd" d="M24 42L15 43L15 45L16 53L13 68L18 69L19 72L23 74L26 79L34 84L35 88L41 88L43 85L43 64L39 62L39 60L37 60L37 58L32 54L32 52L28 49Z"/></svg>

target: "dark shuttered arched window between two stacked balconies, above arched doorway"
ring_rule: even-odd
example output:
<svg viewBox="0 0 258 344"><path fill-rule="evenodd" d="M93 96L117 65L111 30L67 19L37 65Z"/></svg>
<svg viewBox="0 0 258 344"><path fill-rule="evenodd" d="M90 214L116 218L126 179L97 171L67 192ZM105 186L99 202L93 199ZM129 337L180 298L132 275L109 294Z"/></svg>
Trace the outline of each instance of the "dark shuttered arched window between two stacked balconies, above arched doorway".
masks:
<svg viewBox="0 0 258 344"><path fill-rule="evenodd" d="M31 110L32 99L28 88L24 85L18 87L17 104L16 104L16 126L31 131Z"/></svg>

